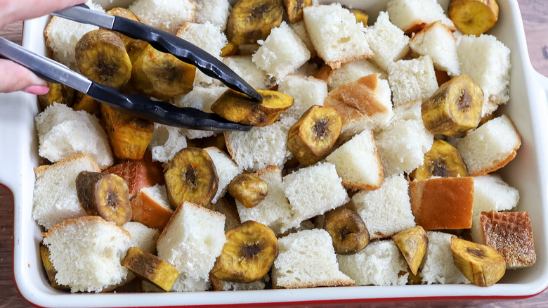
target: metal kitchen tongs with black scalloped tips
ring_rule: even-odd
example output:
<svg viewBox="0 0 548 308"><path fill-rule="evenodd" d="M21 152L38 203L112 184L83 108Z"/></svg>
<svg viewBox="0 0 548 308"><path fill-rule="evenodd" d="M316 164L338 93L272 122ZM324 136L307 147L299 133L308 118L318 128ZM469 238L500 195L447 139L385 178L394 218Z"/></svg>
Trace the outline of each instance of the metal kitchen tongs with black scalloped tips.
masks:
<svg viewBox="0 0 548 308"><path fill-rule="evenodd" d="M235 72L206 51L173 34L127 18L93 11L85 5L72 6L52 13L81 23L114 30L134 39L148 41L155 49L171 53L185 63L195 65L204 74L221 80L230 89L247 94L259 103L262 96ZM146 120L174 127L212 131L249 131L248 125L230 122L213 113L195 108L179 108L171 103L153 101L138 94L121 94L117 89L92 80L44 56L0 37L0 57L8 58L32 70L49 82L62 83L83 92L112 108L124 110Z"/></svg>

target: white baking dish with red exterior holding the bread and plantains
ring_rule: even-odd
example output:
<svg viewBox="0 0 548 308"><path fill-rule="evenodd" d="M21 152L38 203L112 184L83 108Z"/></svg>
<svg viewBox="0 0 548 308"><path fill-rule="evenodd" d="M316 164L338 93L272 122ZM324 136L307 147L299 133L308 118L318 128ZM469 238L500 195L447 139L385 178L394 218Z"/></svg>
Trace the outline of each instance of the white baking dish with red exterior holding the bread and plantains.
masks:
<svg viewBox="0 0 548 308"><path fill-rule="evenodd" d="M112 7L129 0L99 1ZM341 1L366 8L374 22L386 0ZM446 7L447 0L441 0ZM38 243L41 229L32 220L33 167L39 162L34 116L36 96L0 94L0 183L13 192L13 274L21 295L41 307L133 307L211 304L312 304L318 302L371 302L425 298L523 298L541 293L548 286L548 79L533 70L528 57L523 23L516 0L499 0L500 20L489 33L511 49L511 99L505 113L514 120L522 136L516 159L504 167L502 176L518 188L519 211L528 211L535 236L537 263L528 269L507 271L502 281L489 288L474 285L404 285L302 290L257 290L208 293L104 293L67 294L51 288L42 269ZM44 54L43 30L48 18L25 23L23 46ZM7 209L4 209L7 210Z"/></svg>

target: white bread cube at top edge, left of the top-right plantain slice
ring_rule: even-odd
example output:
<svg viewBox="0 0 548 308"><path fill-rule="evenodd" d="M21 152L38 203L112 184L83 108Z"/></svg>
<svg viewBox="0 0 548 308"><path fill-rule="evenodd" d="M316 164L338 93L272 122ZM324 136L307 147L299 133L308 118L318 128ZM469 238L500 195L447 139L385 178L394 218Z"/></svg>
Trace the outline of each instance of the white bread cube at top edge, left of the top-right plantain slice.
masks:
<svg viewBox="0 0 548 308"><path fill-rule="evenodd" d="M455 25L437 0L389 0L386 11L390 14L390 21L405 33L418 32L436 20L455 31Z"/></svg>

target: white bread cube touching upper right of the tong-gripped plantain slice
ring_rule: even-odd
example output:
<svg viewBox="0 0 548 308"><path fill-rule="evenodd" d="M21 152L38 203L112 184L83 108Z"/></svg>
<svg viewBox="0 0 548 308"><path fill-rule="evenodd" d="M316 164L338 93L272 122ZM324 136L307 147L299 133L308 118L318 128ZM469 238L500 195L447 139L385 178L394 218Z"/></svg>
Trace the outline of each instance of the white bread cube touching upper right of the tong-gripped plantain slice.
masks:
<svg viewBox="0 0 548 308"><path fill-rule="evenodd" d="M323 105L327 96L327 83L314 77L302 75L287 75L280 82L278 91L293 98L293 105L285 110L280 117L299 119L313 105Z"/></svg>

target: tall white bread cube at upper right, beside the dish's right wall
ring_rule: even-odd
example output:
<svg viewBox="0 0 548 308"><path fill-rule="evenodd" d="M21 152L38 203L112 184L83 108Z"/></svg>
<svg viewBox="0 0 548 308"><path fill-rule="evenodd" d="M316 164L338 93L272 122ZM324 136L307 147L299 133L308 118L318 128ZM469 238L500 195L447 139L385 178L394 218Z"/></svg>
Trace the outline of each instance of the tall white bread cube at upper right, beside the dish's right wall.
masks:
<svg viewBox="0 0 548 308"><path fill-rule="evenodd" d="M483 90L481 115L489 115L509 101L510 49L488 34L463 35L457 41L461 74L468 74Z"/></svg>

